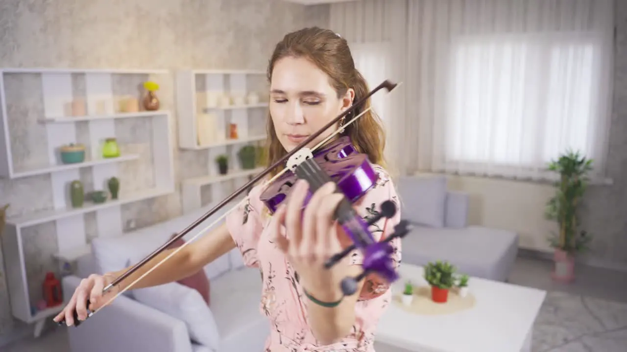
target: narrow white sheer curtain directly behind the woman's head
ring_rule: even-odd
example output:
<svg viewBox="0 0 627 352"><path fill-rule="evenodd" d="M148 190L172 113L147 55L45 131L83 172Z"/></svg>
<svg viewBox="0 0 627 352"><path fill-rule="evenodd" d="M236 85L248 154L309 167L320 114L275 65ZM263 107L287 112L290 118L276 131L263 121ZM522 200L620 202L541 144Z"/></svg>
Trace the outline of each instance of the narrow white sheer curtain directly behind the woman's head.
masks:
<svg viewBox="0 0 627 352"><path fill-rule="evenodd" d="M349 42L357 70L371 90L384 80L404 80L406 4L406 0L362 0L329 6L330 29ZM372 96L373 108L386 126L385 155L393 175L406 173L404 167L409 162L403 143L407 130L405 96L403 86Z"/></svg>

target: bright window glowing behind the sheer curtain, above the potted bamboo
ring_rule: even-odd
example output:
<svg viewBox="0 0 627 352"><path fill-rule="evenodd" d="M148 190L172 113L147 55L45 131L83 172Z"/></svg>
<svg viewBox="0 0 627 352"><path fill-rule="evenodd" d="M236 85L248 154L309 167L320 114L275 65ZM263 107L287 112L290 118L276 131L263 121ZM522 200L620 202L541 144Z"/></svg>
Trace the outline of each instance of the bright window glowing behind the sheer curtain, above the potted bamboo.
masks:
<svg viewBox="0 0 627 352"><path fill-rule="evenodd" d="M466 37L451 51L445 163L502 175L568 148L605 152L603 42L589 33Z"/></svg>

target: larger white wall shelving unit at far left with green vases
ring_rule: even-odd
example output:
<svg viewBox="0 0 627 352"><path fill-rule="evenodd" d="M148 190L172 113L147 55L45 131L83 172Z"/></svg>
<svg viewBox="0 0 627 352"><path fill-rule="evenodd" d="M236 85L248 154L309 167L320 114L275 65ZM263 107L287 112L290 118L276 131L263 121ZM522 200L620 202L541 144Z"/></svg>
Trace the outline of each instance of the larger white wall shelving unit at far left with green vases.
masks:
<svg viewBox="0 0 627 352"><path fill-rule="evenodd" d="M46 129L48 145L48 163L16 169L11 151L9 122L16 116L9 116L6 100L5 79L7 75L37 75L41 80L43 94L43 116L38 123ZM2 123L0 124L0 177L18 179L36 175L50 175L50 187L53 197L53 209L41 210L31 214L8 217L4 231L3 247L8 272L9 293L13 315L25 323L37 323L37 336L45 319L58 313L63 305L31 314L34 302L29 297L26 268L24 265L24 229L46 222L55 222L59 252L57 259L73 261L90 251L87 244L83 214L94 212L97 221L98 236L111 236L123 232L120 206L130 202L150 199L174 192L174 162L172 155L171 114L169 111L119 112L114 106L115 96L113 80L116 75L142 75L141 80L162 81L159 75L168 75L166 70L80 70L48 68L7 68L0 70L0 103ZM85 82L85 116L68 116L68 102L73 101L75 86L73 79L80 76ZM144 77L145 76L145 77ZM167 76L166 76L167 78ZM142 83L138 81L137 85ZM136 96L135 98L140 98ZM120 179L119 199L110 197L101 203L85 202L82 207L73 208L70 202L69 184L80 180L80 168L91 168L92 182L97 189L108 194L106 182L118 175L120 162L134 162L139 155L124 154L117 158L102 158L101 145L105 138L115 137L115 121L122 118L147 118L152 125L151 145L152 165L154 165L154 185L152 187L127 192L124 179ZM88 135L79 136L76 122L88 125ZM79 139L85 143L85 162L63 164L60 162L58 148ZM122 147L122 145L120 145ZM85 189L89 192L90 189Z"/></svg>

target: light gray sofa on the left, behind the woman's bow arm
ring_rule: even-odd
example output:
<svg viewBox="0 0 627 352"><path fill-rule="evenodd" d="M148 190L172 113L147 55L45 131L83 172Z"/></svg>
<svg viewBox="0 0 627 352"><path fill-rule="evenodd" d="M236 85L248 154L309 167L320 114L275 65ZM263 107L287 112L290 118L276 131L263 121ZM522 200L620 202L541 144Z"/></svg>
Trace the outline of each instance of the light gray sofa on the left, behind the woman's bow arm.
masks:
<svg viewBox="0 0 627 352"><path fill-rule="evenodd" d="M81 257L75 275L63 278L69 298L83 277L123 269L161 246L172 233L198 219L207 206L124 236L92 241L92 254ZM224 214L205 220L184 239ZM263 351L270 324L260 312L259 270L245 267L238 249L204 267L211 306L177 282L125 292L78 328L68 330L71 352L241 352Z"/></svg>

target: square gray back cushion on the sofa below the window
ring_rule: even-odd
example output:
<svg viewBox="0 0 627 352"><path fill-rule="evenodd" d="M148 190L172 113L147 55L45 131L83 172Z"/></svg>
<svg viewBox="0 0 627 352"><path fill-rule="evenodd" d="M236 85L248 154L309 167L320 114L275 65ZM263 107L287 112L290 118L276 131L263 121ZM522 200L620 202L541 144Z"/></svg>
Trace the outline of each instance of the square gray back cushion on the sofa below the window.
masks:
<svg viewBox="0 0 627 352"><path fill-rule="evenodd" d="M429 227L444 227L446 177L401 177L397 188L404 219Z"/></svg>

